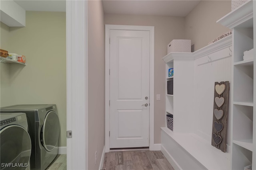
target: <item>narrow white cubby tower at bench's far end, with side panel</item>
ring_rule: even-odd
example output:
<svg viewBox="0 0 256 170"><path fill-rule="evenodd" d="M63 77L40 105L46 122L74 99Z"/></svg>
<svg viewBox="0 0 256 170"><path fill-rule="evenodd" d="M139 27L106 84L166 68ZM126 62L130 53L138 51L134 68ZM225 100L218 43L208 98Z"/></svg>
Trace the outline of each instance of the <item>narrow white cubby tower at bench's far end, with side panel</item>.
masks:
<svg viewBox="0 0 256 170"><path fill-rule="evenodd" d="M182 57L180 57L182 55ZM163 57L166 63L166 114L172 114L174 119L174 131L179 133L189 133L187 128L191 126L191 116L188 112L193 107L193 103L188 96L193 96L193 86L188 82L193 82L194 58L192 53L169 53ZM168 69L174 68L174 76L168 77ZM173 95L167 94L167 81L173 79ZM193 83L192 83L193 84ZM184 106L191 107L182 107ZM177 107L174 107L177 106Z"/></svg>

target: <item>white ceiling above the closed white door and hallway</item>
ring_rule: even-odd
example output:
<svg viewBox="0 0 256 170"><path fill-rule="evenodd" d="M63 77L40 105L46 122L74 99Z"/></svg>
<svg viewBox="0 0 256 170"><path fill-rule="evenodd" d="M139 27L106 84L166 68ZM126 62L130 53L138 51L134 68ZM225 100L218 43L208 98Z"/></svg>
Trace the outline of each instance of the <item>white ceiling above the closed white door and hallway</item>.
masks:
<svg viewBox="0 0 256 170"><path fill-rule="evenodd" d="M103 0L105 14L185 17L200 0Z"/></svg>

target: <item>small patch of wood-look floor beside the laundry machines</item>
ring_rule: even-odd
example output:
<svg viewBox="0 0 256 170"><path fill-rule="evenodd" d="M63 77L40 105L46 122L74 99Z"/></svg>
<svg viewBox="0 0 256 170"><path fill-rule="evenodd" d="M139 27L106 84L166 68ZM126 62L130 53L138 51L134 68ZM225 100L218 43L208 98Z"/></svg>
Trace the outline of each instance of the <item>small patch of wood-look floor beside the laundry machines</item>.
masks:
<svg viewBox="0 0 256 170"><path fill-rule="evenodd" d="M67 169L67 155L58 154L46 170L66 170Z"/></svg>

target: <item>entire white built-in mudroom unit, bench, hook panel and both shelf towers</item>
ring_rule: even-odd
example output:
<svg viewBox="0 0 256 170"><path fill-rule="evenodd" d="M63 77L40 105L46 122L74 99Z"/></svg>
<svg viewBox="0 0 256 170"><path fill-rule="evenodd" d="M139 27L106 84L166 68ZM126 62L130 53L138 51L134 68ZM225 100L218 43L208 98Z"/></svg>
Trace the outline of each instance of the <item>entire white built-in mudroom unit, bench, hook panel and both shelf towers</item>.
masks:
<svg viewBox="0 0 256 170"><path fill-rule="evenodd" d="M248 1L217 21L232 35L193 53L169 53L166 114L173 131L161 128L161 150L174 169L256 170L256 1ZM243 60L254 48L253 59ZM168 78L168 69L174 76ZM173 95L167 81L173 79ZM229 81L228 149L211 145L214 82ZM209 83L208 83L209 82ZM205 106L204 106L205 105Z"/></svg>

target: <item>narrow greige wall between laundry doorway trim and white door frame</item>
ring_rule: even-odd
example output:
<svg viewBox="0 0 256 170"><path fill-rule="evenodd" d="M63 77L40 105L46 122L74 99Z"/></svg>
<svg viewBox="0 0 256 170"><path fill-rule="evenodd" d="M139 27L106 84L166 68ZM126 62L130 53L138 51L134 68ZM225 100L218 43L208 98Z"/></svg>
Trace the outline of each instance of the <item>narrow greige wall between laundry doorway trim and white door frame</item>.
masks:
<svg viewBox="0 0 256 170"><path fill-rule="evenodd" d="M105 25L102 1L88 1L88 169L100 166L105 145ZM95 152L97 161L95 164Z"/></svg>

